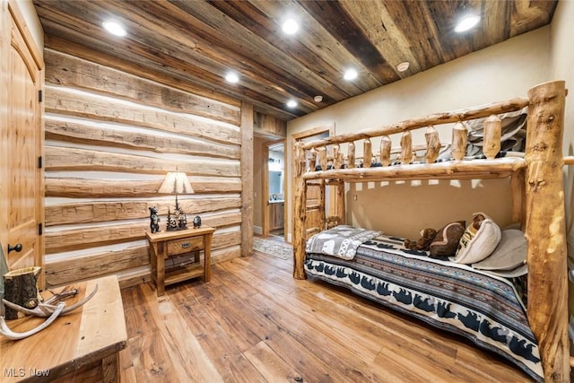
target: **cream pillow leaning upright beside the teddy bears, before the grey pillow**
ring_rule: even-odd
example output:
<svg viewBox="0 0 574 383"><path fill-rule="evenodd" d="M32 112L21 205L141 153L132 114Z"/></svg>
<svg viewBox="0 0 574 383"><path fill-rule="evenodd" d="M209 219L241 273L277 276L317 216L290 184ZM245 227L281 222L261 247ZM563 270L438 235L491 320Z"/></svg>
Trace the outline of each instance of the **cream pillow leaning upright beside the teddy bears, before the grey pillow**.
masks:
<svg viewBox="0 0 574 383"><path fill-rule="evenodd" d="M466 227L459 241L460 248L458 248L457 257L454 259L454 262L458 264L470 265L482 261L492 254L500 242L499 225L484 213L474 213L474 217L478 214L482 214L484 220L478 230L474 229L474 222Z"/></svg>

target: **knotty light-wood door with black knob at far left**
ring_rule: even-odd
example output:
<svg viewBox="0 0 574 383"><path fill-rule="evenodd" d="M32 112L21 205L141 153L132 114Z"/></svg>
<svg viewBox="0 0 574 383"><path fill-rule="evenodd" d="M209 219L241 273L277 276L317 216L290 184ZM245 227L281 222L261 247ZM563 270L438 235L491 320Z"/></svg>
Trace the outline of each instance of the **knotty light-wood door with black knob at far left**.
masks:
<svg viewBox="0 0 574 383"><path fill-rule="evenodd" d="M1 136L4 155L0 179L3 212L0 215L0 240L9 269L43 266L43 145L40 90L43 63L38 49L25 27L16 2L3 10L3 37L10 46L2 47L2 82L6 84L2 109ZM6 41L6 39L3 39ZM6 44L7 45L7 44ZM5 60L5 61L4 61ZM5 210L5 211L4 211ZM14 249L15 248L15 249ZM20 251L18 251L20 250ZM40 287L43 277L40 278Z"/></svg>

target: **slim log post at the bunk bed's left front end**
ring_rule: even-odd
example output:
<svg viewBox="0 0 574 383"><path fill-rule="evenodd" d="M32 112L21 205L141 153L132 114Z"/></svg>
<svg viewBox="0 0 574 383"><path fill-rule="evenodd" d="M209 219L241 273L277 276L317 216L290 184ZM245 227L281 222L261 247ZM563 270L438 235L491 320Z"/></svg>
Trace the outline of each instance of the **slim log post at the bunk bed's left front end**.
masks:
<svg viewBox="0 0 574 383"><path fill-rule="evenodd" d="M303 262L305 262L305 242L307 240L305 220L307 219L307 182L305 173L305 151L303 143L295 143L295 196L293 206L293 278L306 279Z"/></svg>

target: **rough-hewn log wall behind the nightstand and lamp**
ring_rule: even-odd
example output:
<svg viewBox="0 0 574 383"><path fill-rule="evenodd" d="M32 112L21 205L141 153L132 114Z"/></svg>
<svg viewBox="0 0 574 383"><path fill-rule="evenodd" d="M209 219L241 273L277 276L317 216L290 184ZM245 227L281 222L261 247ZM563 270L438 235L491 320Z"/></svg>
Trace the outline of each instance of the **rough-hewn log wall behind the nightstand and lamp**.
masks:
<svg viewBox="0 0 574 383"><path fill-rule="evenodd" d="M144 233L149 207L159 208L161 230L174 208L174 196L157 193L168 171L186 172L194 187L194 195L178 197L188 221L198 214L216 228L212 262L239 257L239 103L52 49L45 60L48 287L104 274L117 274L123 286L149 280Z"/></svg>

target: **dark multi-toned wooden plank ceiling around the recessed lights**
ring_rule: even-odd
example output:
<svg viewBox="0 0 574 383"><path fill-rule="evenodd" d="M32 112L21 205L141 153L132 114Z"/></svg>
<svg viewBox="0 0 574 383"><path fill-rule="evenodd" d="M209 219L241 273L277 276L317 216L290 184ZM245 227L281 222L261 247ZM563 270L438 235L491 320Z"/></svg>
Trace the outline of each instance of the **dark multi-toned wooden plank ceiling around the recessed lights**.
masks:
<svg viewBox="0 0 574 383"><path fill-rule="evenodd" d="M33 0L46 47L289 120L552 21L557 0ZM482 16L454 31L457 18ZM287 16L300 21L283 33ZM127 30L117 38L101 23ZM408 61L399 72L396 65ZM346 68L359 76L345 81ZM239 83L226 83L229 71ZM323 100L317 102L314 97ZM289 109L287 100L297 100Z"/></svg>

